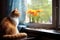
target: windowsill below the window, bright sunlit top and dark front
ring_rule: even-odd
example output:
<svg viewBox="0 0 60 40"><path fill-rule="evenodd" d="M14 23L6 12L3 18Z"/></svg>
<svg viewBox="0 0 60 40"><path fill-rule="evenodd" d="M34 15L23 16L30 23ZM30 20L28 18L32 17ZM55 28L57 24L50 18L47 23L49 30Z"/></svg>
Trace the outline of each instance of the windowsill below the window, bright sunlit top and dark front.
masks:
<svg viewBox="0 0 60 40"><path fill-rule="evenodd" d="M56 30L22 28L21 31L26 32L29 36L33 37L49 37L54 39L60 39L60 32Z"/></svg>

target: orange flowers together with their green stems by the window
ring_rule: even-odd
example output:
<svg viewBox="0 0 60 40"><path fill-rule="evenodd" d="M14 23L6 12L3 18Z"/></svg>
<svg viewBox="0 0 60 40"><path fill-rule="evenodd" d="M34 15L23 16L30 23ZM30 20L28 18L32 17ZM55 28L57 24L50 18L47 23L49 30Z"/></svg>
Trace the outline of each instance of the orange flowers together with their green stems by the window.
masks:
<svg viewBox="0 0 60 40"><path fill-rule="evenodd" d="M38 9L38 10L28 9L26 11L26 13L28 14L28 16L30 18L30 22L39 22L40 15L42 14L41 12L43 12L42 9ZM42 15L42 16L44 16L44 15Z"/></svg>

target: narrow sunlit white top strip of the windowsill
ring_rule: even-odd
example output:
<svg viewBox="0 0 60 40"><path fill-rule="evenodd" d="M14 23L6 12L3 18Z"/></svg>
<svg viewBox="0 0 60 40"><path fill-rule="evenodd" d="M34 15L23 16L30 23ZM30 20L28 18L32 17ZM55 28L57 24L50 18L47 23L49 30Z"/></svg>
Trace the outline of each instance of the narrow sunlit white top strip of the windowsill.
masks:
<svg viewBox="0 0 60 40"><path fill-rule="evenodd" d="M26 30L30 30L30 31L36 31L36 32L44 32L44 33L50 33L50 34L59 34L60 32L56 31L56 30L47 30L47 29L33 29L33 28L25 28Z"/></svg>

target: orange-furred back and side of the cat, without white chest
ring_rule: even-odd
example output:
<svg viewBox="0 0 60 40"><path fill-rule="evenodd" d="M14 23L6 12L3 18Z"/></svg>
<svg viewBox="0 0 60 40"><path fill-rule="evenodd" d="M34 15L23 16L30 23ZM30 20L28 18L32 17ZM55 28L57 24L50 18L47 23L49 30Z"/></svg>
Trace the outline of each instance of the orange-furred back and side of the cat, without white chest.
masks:
<svg viewBox="0 0 60 40"><path fill-rule="evenodd" d="M3 30L4 34L14 34L16 31L15 25L12 23L12 21L5 17L1 22L1 30Z"/></svg>

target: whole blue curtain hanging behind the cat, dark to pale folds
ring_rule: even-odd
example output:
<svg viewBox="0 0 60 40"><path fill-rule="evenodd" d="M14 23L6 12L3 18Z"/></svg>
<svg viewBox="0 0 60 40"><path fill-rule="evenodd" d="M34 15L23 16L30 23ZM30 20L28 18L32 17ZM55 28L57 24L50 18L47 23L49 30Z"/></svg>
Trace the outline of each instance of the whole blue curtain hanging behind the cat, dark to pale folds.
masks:
<svg viewBox="0 0 60 40"><path fill-rule="evenodd" d="M20 23L24 23L25 20L25 11L26 11L26 0L6 0L6 13L5 16L8 16L8 14L17 8L21 14L19 17Z"/></svg>

